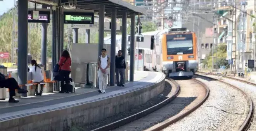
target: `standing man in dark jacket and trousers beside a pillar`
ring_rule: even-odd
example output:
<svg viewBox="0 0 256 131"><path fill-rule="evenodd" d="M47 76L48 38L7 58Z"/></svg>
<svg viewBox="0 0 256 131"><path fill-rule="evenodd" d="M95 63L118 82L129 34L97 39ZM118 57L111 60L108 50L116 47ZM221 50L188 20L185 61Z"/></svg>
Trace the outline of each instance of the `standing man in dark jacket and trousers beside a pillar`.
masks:
<svg viewBox="0 0 256 131"><path fill-rule="evenodd" d="M118 55L116 56L116 84L118 86L125 86L125 68L125 57L122 56L122 50L119 50ZM121 81L119 81L119 74Z"/></svg>

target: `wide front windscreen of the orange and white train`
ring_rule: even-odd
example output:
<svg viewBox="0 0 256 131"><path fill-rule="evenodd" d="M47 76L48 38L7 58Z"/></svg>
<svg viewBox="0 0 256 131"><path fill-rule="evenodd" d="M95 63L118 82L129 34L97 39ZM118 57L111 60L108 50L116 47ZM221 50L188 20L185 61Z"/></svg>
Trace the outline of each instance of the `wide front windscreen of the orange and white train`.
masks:
<svg viewBox="0 0 256 131"><path fill-rule="evenodd" d="M192 40L167 40L167 55L193 54Z"/></svg>

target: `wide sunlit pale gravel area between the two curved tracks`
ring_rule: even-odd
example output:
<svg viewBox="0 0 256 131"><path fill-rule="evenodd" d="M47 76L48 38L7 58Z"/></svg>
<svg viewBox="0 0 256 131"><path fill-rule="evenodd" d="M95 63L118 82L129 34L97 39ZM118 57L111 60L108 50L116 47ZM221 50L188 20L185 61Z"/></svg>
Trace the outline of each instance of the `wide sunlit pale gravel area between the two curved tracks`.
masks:
<svg viewBox="0 0 256 131"><path fill-rule="evenodd" d="M249 112L242 92L218 81L197 80L209 86L206 102L163 131L237 131Z"/></svg>

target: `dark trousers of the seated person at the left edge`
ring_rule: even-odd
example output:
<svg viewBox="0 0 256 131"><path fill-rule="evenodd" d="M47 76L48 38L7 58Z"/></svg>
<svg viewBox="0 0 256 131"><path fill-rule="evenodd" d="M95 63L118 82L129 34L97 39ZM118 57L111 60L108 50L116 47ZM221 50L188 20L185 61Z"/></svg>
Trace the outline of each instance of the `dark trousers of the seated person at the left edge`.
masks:
<svg viewBox="0 0 256 131"><path fill-rule="evenodd" d="M8 88L10 90L10 98L15 96L15 90L20 89L17 81L14 78L9 78L7 80L0 81L0 88Z"/></svg>

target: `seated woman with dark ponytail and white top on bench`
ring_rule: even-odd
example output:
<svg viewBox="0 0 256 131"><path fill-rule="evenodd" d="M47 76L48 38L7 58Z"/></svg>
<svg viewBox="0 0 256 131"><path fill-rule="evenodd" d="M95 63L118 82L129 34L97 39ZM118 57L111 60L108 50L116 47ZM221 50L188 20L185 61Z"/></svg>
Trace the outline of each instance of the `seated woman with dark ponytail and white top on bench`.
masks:
<svg viewBox="0 0 256 131"><path fill-rule="evenodd" d="M43 83L43 74L42 74L42 69L38 64L36 63L36 60L31 60L31 68L30 71L32 73L32 81L35 83ZM40 95L42 96L43 93L43 84L40 85L40 93L38 93L38 85L36 85L36 91L35 94L36 96Z"/></svg>

